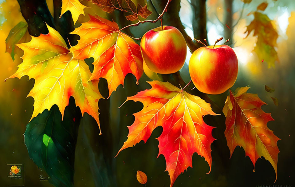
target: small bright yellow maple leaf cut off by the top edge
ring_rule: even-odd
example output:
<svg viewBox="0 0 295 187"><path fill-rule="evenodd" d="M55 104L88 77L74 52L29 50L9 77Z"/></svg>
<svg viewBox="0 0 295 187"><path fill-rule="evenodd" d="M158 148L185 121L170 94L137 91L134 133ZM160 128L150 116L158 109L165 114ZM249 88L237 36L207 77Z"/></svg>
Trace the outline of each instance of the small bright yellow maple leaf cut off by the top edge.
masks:
<svg viewBox="0 0 295 187"><path fill-rule="evenodd" d="M87 8L87 6L82 5L81 2L79 2L79 0L62 0L61 16L69 10L72 14L72 18L75 24L80 14L85 15L84 8ZM61 18L61 16L59 18Z"/></svg>

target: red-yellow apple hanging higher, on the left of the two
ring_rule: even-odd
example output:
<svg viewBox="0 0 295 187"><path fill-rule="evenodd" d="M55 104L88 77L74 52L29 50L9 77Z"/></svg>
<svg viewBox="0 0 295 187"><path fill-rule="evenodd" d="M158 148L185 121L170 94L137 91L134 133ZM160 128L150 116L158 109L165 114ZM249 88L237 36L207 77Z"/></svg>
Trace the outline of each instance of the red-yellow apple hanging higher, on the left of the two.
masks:
<svg viewBox="0 0 295 187"><path fill-rule="evenodd" d="M144 34L141 54L148 68L160 74L180 70L187 56L187 44L181 32L173 26L157 27Z"/></svg>

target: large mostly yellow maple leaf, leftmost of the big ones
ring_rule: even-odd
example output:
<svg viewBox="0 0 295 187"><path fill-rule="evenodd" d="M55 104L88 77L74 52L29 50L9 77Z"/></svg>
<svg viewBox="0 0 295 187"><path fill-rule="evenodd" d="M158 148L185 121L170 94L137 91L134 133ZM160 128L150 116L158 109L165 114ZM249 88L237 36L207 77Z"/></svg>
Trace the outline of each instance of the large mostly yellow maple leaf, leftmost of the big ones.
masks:
<svg viewBox="0 0 295 187"><path fill-rule="evenodd" d="M102 98L98 81L88 81L91 72L88 65L73 58L64 39L53 28L48 34L32 37L28 43L17 46L24 51L23 62L10 78L29 76L35 79L28 96L34 98L32 118L56 104L62 114L73 96L82 115L86 112L98 119L98 100Z"/></svg>

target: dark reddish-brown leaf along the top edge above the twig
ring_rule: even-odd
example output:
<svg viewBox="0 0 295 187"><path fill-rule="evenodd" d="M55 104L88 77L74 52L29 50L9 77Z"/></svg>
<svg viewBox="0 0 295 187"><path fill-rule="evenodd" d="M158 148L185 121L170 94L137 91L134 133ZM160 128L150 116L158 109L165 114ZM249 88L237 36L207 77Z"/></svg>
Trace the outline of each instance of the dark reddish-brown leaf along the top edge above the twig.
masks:
<svg viewBox="0 0 295 187"><path fill-rule="evenodd" d="M147 18L152 12L148 10L147 4L142 7L139 3L137 6L131 0L92 0L92 3L97 4L105 12L112 13L114 10L128 12L132 15L126 16L127 20L135 21L138 16Z"/></svg>

